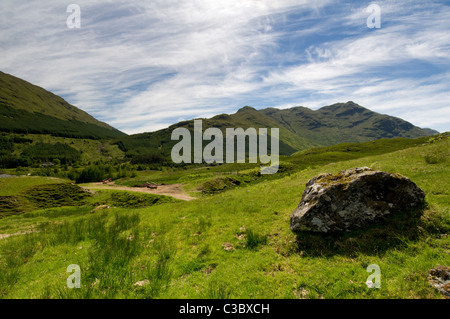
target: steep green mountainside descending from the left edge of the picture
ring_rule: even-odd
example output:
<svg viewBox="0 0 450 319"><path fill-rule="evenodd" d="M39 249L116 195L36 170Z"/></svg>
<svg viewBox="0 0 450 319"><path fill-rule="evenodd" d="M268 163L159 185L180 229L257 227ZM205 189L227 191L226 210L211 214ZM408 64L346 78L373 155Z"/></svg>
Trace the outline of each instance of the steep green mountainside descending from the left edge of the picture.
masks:
<svg viewBox="0 0 450 319"><path fill-rule="evenodd" d="M126 135L61 97L3 72L0 72L0 131L95 139Z"/></svg>

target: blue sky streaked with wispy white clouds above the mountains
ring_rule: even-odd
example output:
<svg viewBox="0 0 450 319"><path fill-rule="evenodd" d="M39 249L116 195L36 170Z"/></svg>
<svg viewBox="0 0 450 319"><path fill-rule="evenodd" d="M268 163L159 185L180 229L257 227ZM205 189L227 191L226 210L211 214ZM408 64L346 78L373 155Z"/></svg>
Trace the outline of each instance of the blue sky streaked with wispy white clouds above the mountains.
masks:
<svg viewBox="0 0 450 319"><path fill-rule="evenodd" d="M0 70L128 134L347 101L450 131L449 66L450 1L0 1Z"/></svg>

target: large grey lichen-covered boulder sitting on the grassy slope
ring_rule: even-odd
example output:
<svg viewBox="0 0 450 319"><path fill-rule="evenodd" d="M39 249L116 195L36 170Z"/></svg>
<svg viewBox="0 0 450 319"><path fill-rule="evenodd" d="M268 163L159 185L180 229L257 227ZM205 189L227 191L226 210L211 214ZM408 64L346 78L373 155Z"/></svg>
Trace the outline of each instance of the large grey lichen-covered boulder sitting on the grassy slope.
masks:
<svg viewBox="0 0 450 319"><path fill-rule="evenodd" d="M321 174L306 183L291 230L341 232L423 205L425 193L400 174L368 167Z"/></svg>

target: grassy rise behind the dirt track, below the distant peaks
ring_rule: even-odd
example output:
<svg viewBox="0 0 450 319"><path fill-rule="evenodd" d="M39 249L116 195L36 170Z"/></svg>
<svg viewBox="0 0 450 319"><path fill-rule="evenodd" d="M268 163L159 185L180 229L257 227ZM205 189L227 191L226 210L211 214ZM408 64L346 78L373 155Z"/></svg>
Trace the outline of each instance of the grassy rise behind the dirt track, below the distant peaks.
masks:
<svg viewBox="0 0 450 319"><path fill-rule="evenodd" d="M431 143L434 140L439 140L439 136L445 138L447 135L441 134L431 138L422 137L417 139L381 139L364 143L342 143L334 146L312 148L307 151L297 152L289 157L281 156L280 168L277 174L273 175L258 174L260 172L260 164L228 163L206 167L192 166L178 169L165 168L161 171L138 171L134 178L123 178L115 182L124 186L133 186L146 182L183 183L185 189L194 196L198 196L198 193L211 195L236 187L245 187L267 180L283 178L295 171L309 167L381 155ZM442 151L439 154L441 153ZM440 158L442 161L442 155Z"/></svg>

